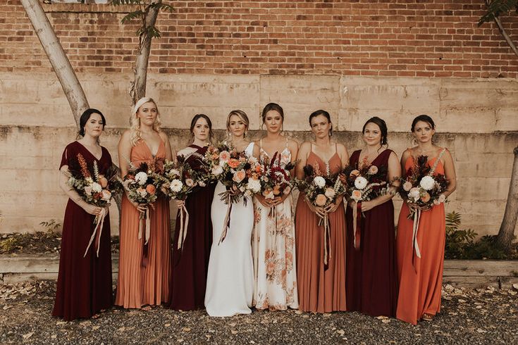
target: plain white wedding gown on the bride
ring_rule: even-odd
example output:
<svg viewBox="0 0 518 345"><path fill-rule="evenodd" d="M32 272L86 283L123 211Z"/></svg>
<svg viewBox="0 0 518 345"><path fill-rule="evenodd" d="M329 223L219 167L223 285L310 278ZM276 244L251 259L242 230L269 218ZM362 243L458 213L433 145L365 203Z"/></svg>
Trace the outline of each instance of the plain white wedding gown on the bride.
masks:
<svg viewBox="0 0 518 345"><path fill-rule="evenodd" d="M245 150L252 156L254 143ZM221 244L218 244L226 215L226 203L220 194L226 188L218 182L212 201L212 238L209 272L205 292L206 312L211 316L232 316L252 313L254 294L254 266L252 264L252 229L254 227L254 204L249 197L234 203L230 212L230 228Z"/></svg>

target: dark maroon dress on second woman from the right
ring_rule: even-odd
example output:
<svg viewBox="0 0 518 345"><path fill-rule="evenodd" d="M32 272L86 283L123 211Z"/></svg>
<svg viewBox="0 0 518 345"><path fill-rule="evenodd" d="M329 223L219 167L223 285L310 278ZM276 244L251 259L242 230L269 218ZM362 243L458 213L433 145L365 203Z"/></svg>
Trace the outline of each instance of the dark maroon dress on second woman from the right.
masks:
<svg viewBox="0 0 518 345"><path fill-rule="evenodd" d="M350 157L349 162L354 167L358 166L359 153L354 151ZM381 152L372 164L378 168L385 165L388 170L390 153L392 151L388 149ZM360 246L354 249L352 209L347 207L347 311L359 311L372 316L395 316L397 263L394 204L389 200L364 214L360 227Z"/></svg>

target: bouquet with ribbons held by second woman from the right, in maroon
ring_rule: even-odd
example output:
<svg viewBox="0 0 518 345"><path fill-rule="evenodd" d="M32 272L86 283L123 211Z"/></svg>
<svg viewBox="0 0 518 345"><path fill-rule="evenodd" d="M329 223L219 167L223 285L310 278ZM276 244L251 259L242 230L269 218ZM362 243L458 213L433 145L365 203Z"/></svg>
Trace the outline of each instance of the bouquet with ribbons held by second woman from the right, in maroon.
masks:
<svg viewBox="0 0 518 345"><path fill-rule="evenodd" d="M354 237L354 249L359 249L360 232L358 227L362 222L362 201L376 199L378 196L389 192L387 182L384 180L386 166L377 167L368 164L366 160L358 167L347 166L342 177L347 184L347 195L353 201L352 207L352 233Z"/></svg>

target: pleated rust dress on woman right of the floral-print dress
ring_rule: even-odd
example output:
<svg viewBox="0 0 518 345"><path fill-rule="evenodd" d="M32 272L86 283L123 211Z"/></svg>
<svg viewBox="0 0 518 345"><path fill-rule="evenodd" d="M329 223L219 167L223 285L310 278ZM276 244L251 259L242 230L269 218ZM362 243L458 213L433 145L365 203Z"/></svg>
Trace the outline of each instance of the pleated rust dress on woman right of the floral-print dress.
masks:
<svg viewBox="0 0 518 345"><path fill-rule="evenodd" d="M307 164L328 167L331 174L342 170L338 153L324 163L313 150L307 156ZM300 193L295 214L295 239L297 244L297 286L299 309L316 313L345 311L345 211L343 205L333 213L328 213L331 225L329 248L331 256L328 268L324 267L323 227L319 227L319 216Z"/></svg>

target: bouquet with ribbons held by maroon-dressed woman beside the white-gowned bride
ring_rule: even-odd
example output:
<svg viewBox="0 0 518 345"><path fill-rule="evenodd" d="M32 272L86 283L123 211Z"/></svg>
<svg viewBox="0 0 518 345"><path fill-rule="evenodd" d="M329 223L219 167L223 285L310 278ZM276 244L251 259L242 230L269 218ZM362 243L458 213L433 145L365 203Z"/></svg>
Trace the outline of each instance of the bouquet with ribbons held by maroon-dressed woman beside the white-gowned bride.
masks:
<svg viewBox="0 0 518 345"><path fill-rule="evenodd" d="M160 192L168 198L185 201L187 196L195 187L206 186L206 176L203 171L195 171L189 163L185 162L184 156L178 156L177 161L166 161L164 171L155 173L154 177L161 184ZM178 249L183 246L187 237L187 227L189 225L189 213L183 203L180 208L180 234L178 236Z"/></svg>

